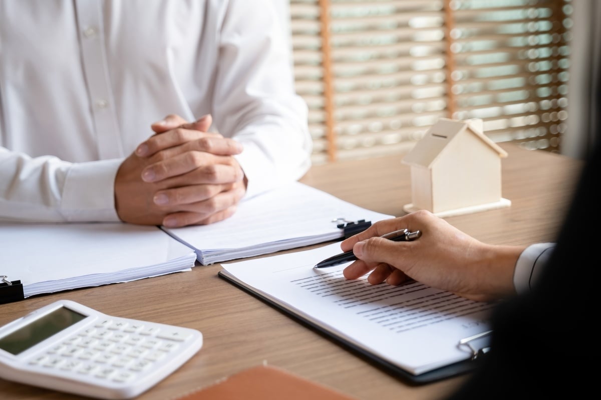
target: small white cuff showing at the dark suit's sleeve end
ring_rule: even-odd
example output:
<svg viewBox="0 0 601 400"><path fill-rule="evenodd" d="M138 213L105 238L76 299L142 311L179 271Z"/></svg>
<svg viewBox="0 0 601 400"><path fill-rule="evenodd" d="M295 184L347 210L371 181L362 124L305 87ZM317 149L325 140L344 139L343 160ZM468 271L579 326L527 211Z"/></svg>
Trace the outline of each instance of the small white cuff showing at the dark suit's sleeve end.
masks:
<svg viewBox="0 0 601 400"><path fill-rule="evenodd" d="M555 243L535 243L520 254L513 272L513 286L518 294L532 289L554 248Z"/></svg>

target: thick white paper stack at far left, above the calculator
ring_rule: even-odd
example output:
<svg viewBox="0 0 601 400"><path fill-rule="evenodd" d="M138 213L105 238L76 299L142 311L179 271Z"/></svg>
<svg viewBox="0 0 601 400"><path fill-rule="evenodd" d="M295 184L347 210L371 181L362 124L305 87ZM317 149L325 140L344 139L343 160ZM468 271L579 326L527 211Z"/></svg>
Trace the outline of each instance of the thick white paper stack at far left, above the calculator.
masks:
<svg viewBox="0 0 601 400"><path fill-rule="evenodd" d="M157 227L123 223L0 224L0 243L0 275L23 297L190 270L196 258Z"/></svg>

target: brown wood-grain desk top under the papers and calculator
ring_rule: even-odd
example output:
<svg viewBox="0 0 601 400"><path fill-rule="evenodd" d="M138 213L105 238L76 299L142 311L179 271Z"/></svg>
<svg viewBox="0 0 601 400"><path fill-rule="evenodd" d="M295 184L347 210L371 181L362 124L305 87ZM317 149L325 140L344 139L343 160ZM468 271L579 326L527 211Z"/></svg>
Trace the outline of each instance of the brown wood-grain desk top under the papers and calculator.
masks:
<svg viewBox="0 0 601 400"><path fill-rule="evenodd" d="M510 207L449 217L451 224L490 243L554 240L581 162L543 151L502 145L503 196ZM401 157L342 161L316 166L302 182L341 199L390 215L410 203L409 168ZM40 258L43 262L43 258ZM463 377L410 386L345 350L320 333L246 294L217 276L219 264L103 287L32 297L0 305L0 325L58 299L70 299L107 314L192 327L204 346L174 374L139 396L172 399L242 369L266 362L363 400L438 399ZM76 399L0 380L6 399Z"/></svg>

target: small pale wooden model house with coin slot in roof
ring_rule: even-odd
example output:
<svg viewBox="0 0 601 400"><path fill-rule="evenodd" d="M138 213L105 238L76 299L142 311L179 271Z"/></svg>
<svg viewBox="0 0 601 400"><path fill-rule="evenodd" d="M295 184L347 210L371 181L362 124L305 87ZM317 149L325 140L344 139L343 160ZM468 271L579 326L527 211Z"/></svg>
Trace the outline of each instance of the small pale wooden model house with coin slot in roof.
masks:
<svg viewBox="0 0 601 400"><path fill-rule="evenodd" d="M481 119L439 119L403 158L412 190L404 210L449 216L509 206L501 197L504 157L507 152L484 135Z"/></svg>

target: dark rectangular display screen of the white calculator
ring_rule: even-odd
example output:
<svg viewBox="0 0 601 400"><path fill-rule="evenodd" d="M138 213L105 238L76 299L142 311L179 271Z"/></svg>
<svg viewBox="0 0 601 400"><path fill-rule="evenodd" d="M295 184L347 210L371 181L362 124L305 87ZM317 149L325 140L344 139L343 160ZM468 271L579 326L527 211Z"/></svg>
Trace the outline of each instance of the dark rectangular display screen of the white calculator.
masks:
<svg viewBox="0 0 601 400"><path fill-rule="evenodd" d="M64 306L57 308L0 338L0 348L11 354L19 354L85 317Z"/></svg>

